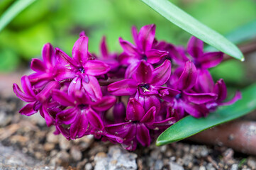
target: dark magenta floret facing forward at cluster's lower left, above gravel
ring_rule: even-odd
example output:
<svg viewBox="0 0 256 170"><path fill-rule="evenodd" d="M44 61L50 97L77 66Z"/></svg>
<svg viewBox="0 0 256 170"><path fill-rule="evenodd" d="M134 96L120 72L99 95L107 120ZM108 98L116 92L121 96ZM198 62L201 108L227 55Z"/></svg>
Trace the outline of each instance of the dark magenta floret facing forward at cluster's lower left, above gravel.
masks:
<svg viewBox="0 0 256 170"><path fill-rule="evenodd" d="M100 131L104 134L104 123L99 113L106 111L116 103L114 96L104 96L92 102L84 91L75 91L72 95L63 91L52 91L52 98L62 106L68 107L56 115L57 125L70 125L69 135L72 140ZM106 133L107 134L107 133ZM99 134L98 134L99 135Z"/></svg>

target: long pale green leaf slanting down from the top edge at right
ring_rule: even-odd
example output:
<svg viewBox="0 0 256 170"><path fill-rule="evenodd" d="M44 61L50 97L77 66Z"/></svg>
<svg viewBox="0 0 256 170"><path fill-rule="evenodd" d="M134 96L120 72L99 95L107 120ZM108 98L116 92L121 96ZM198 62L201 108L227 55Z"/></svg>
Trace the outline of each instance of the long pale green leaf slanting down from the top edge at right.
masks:
<svg viewBox="0 0 256 170"><path fill-rule="evenodd" d="M235 57L241 61L244 60L243 53L232 42L224 38L223 35L200 23L168 0L141 1L167 18L167 20L194 35L196 38L216 47L216 49L226 53L227 55Z"/></svg>

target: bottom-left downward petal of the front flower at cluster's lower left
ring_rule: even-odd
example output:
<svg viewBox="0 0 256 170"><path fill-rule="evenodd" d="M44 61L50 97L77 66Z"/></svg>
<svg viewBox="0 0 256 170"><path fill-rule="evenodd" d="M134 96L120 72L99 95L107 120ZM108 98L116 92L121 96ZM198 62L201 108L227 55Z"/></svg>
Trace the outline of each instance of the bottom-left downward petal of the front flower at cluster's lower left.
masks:
<svg viewBox="0 0 256 170"><path fill-rule="evenodd" d="M70 125L70 137L72 140L83 137L84 133L87 132L88 129L88 120L87 116L83 113L77 114L77 118Z"/></svg>

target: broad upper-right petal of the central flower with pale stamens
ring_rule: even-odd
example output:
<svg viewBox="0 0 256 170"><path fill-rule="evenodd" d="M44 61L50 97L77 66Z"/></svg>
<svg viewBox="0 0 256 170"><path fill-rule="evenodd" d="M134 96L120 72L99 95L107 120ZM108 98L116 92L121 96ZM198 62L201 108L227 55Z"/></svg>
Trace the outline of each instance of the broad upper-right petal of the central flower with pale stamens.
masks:
<svg viewBox="0 0 256 170"><path fill-rule="evenodd" d="M152 74L152 81L150 84L153 86L162 86L171 76L172 64L169 60L165 60L160 67L154 69Z"/></svg>

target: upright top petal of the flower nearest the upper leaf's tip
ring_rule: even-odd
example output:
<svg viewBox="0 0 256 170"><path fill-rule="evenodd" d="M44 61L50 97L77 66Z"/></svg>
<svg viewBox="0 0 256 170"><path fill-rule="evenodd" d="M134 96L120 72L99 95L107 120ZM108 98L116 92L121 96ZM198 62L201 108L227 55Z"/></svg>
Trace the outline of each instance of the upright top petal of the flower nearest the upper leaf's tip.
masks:
<svg viewBox="0 0 256 170"><path fill-rule="evenodd" d="M199 40L198 38L192 36L189 39L188 45L187 45L187 52L189 55L191 55L194 58L199 58L201 55L203 55L203 48L204 48L204 42L202 40Z"/></svg>

